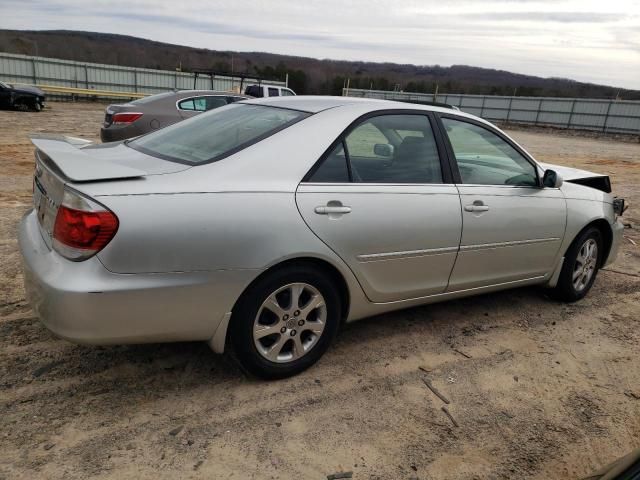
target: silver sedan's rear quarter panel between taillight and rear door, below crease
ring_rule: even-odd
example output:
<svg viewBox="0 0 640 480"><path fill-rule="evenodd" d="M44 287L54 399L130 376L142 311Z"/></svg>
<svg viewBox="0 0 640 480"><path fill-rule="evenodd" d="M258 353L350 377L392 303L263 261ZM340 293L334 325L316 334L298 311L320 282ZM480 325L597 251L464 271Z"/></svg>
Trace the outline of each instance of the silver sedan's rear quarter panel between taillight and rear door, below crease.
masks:
<svg viewBox="0 0 640 480"><path fill-rule="evenodd" d="M117 212L118 233L98 254L111 272L252 270L316 258L345 279L350 316L367 300L351 270L302 220L293 192L218 192L97 197Z"/></svg>

